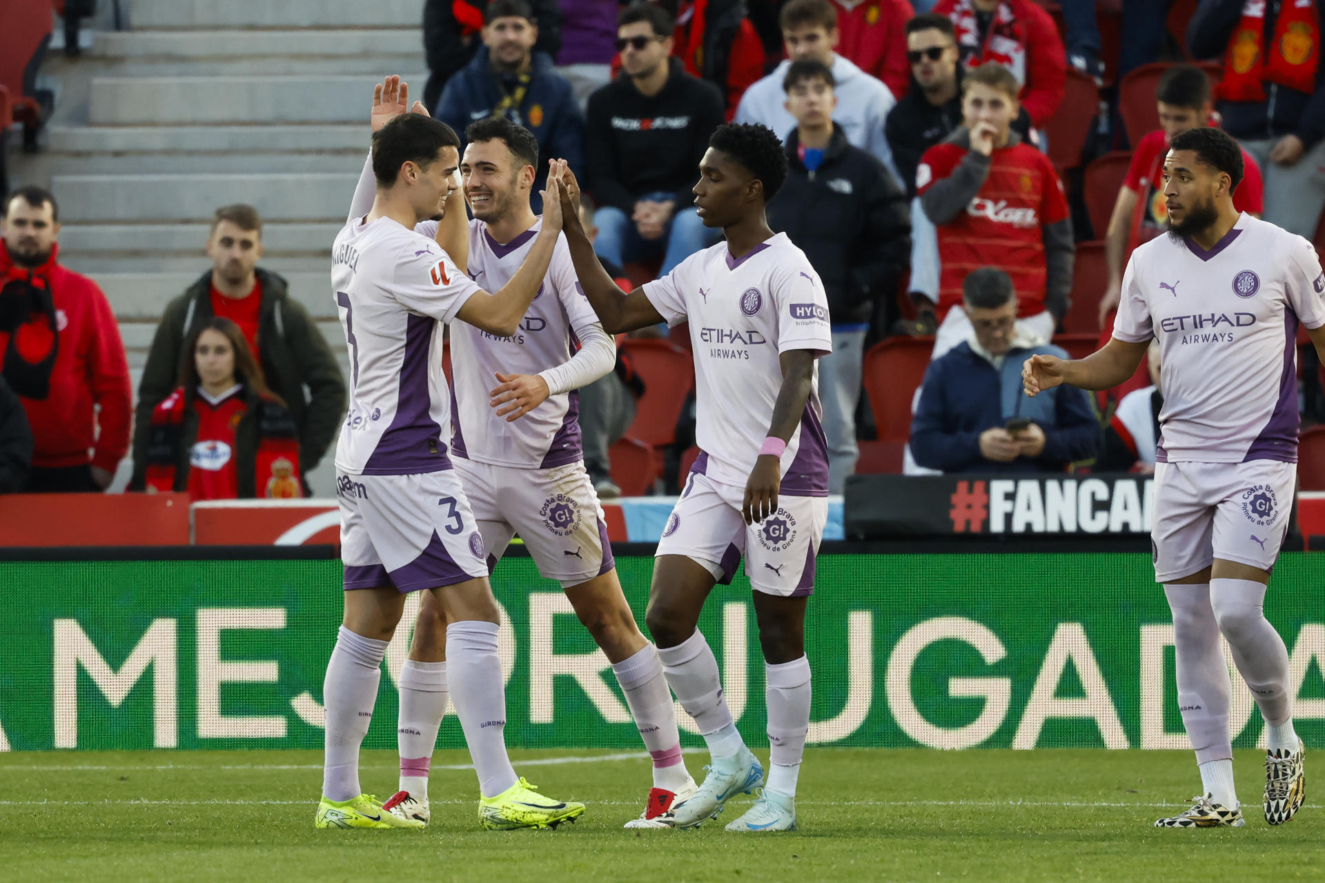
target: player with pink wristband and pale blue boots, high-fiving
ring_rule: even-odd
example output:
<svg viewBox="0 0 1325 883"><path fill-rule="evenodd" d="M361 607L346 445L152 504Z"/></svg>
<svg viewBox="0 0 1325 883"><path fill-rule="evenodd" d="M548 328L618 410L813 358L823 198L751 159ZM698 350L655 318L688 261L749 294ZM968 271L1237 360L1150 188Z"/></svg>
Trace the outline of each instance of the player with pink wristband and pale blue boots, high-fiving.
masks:
<svg viewBox="0 0 1325 883"><path fill-rule="evenodd" d="M796 827L796 777L810 727L806 602L828 515L815 363L832 351L828 302L804 253L784 233L775 236L765 217L787 176L778 136L763 126L719 126L698 171L698 214L706 226L722 228L726 241L631 294L594 257L568 173L562 214L575 271L604 330L689 322L694 344L702 453L662 531L645 624L713 763L672 821L696 826L763 784L763 767L731 720L713 650L696 627L714 584L730 581L745 555L765 655L771 769L767 788L727 830L787 831Z"/></svg>

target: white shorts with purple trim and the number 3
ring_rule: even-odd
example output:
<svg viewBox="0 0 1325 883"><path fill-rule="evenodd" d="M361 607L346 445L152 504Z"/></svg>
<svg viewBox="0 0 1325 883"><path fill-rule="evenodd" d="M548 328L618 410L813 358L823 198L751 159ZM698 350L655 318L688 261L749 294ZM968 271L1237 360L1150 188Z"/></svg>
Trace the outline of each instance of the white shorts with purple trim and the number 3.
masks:
<svg viewBox="0 0 1325 883"><path fill-rule="evenodd" d="M346 589L436 589L488 576L488 551L454 470L337 474Z"/></svg>

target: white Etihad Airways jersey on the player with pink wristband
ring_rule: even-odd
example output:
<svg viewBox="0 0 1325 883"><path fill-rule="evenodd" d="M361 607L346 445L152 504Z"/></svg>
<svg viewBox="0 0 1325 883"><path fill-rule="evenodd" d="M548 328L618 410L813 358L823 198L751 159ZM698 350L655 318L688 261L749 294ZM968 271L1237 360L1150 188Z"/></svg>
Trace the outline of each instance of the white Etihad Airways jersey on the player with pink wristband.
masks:
<svg viewBox="0 0 1325 883"><path fill-rule="evenodd" d="M690 323L696 377L694 471L745 487L782 389L779 353L832 352L828 301L804 252L778 233L739 261L726 242L692 254L644 295L669 326ZM819 368L782 454L782 492L828 495Z"/></svg>

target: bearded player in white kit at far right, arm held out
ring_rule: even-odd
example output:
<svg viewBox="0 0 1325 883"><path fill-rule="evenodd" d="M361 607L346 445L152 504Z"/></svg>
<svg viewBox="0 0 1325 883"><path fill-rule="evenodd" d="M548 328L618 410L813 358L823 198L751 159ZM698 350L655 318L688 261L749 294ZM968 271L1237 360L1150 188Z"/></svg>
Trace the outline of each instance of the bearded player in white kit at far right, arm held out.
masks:
<svg viewBox="0 0 1325 883"><path fill-rule="evenodd" d="M1178 706L1204 794L1159 827L1242 826L1228 732L1228 641L1265 719L1265 821L1302 804L1288 653L1263 604L1297 474L1297 326L1325 357L1325 274L1310 242L1232 207L1242 151L1218 128L1177 135L1165 159L1169 236L1132 254L1113 339L1086 359L1032 356L1034 396L1109 389L1159 340L1163 410L1151 544L1173 610Z"/></svg>

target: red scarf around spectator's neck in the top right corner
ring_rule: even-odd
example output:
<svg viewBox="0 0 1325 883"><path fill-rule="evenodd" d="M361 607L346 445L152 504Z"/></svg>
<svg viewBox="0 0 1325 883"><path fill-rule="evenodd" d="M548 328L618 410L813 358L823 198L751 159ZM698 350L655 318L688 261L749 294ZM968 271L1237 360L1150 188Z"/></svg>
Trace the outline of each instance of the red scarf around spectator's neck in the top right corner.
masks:
<svg viewBox="0 0 1325 883"><path fill-rule="evenodd" d="M1284 0L1275 23L1271 52L1265 52L1265 4L1247 0L1243 17L1228 40L1224 79L1215 95L1224 101L1265 101L1265 82L1297 91L1316 91L1320 64L1320 16L1316 0Z"/></svg>

